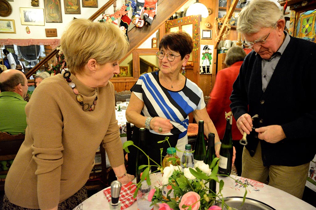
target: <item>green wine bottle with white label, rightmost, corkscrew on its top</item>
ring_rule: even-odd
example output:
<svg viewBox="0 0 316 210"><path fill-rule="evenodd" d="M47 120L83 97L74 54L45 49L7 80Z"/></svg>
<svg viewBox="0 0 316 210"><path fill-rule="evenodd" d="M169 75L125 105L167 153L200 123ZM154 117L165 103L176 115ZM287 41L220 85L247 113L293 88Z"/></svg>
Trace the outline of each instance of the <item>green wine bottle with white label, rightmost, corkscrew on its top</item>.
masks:
<svg viewBox="0 0 316 210"><path fill-rule="evenodd" d="M226 130L219 152L218 173L230 175L233 161L233 138L232 138L233 116L227 118Z"/></svg>

